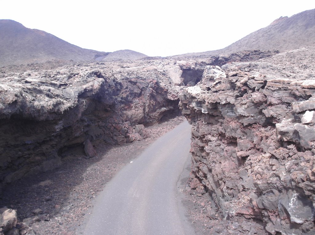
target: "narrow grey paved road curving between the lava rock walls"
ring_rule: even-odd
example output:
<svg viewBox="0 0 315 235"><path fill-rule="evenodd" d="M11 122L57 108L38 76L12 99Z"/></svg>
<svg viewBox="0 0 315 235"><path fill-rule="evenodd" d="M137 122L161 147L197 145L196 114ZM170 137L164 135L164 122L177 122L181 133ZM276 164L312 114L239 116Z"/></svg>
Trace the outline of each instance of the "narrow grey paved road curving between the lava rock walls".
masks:
<svg viewBox="0 0 315 235"><path fill-rule="evenodd" d="M176 183L190 157L187 121L158 138L97 197L85 235L193 235Z"/></svg>

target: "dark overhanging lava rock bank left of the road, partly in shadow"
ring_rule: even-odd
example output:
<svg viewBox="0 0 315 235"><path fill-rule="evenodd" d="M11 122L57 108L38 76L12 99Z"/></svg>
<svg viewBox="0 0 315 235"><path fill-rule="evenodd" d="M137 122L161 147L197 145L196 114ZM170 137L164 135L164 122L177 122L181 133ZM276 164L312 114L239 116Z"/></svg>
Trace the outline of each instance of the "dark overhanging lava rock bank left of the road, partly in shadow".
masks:
<svg viewBox="0 0 315 235"><path fill-rule="evenodd" d="M179 66L158 65L94 63L38 70L34 64L16 73L3 68L2 184L52 170L67 154L93 157L97 143L140 140L146 137L144 126L178 115L180 87L174 81L180 75L174 78L164 67Z"/></svg>

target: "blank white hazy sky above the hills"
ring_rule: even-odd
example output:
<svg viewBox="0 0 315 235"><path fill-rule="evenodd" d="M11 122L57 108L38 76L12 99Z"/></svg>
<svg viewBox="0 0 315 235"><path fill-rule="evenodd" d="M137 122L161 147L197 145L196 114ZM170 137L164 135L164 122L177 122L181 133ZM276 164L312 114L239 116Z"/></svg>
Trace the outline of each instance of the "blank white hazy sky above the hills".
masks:
<svg viewBox="0 0 315 235"><path fill-rule="evenodd" d="M169 56L221 49L281 16L313 8L313 0L2 0L0 19L82 48Z"/></svg>

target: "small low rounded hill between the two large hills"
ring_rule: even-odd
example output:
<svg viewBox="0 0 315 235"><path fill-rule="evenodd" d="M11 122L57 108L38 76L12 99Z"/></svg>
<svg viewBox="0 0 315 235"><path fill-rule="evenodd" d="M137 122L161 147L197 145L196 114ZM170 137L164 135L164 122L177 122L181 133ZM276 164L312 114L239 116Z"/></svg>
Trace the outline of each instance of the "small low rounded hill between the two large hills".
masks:
<svg viewBox="0 0 315 235"><path fill-rule="evenodd" d="M132 50L119 50L109 53L106 56L96 58L97 61L114 61L114 60L136 60L148 57L145 54Z"/></svg>

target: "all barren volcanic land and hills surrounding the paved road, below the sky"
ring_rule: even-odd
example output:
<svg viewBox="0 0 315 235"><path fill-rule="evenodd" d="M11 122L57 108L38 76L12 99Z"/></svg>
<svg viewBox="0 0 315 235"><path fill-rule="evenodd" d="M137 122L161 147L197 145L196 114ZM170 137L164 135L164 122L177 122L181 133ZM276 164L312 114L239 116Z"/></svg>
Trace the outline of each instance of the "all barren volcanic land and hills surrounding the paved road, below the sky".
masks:
<svg viewBox="0 0 315 235"><path fill-rule="evenodd" d="M169 58L2 20L14 38L0 43L0 234L80 234L104 185L180 112L192 161L179 189L197 234L314 233L313 13Z"/></svg>

